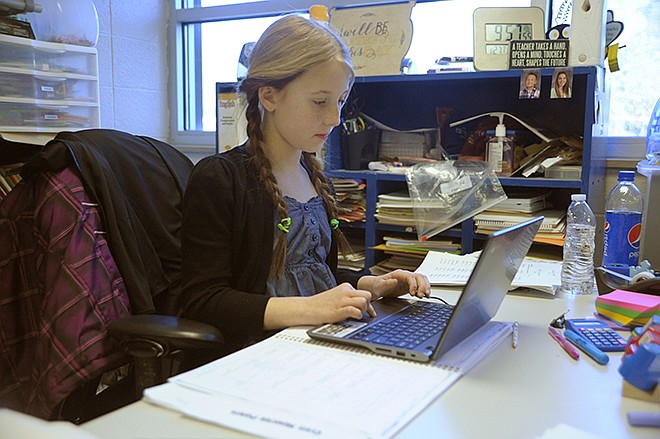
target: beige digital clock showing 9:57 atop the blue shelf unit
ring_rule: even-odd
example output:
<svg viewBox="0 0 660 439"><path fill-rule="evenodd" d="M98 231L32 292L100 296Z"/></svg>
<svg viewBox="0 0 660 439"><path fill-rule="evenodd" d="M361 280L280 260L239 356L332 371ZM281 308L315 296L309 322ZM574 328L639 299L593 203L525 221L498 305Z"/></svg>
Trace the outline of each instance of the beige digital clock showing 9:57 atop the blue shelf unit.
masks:
<svg viewBox="0 0 660 439"><path fill-rule="evenodd" d="M509 42L545 39L541 8L477 8L474 11L474 68L509 68Z"/></svg>

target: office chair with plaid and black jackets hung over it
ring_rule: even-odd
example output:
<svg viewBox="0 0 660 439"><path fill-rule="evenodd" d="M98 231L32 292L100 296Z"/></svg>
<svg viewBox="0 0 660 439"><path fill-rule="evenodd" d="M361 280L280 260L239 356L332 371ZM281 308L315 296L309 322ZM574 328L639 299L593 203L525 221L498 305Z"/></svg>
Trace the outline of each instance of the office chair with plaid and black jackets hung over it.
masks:
<svg viewBox="0 0 660 439"><path fill-rule="evenodd" d="M1 146L31 156L0 202L0 406L84 422L222 346L176 317L187 157L114 130Z"/></svg>

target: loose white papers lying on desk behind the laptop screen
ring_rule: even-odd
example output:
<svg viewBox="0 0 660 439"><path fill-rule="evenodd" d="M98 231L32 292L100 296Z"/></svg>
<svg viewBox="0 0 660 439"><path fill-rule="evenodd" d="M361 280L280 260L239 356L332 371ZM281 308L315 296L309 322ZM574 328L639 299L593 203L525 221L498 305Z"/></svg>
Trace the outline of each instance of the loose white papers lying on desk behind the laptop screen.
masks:
<svg viewBox="0 0 660 439"><path fill-rule="evenodd" d="M467 283L477 263L475 253L455 255L443 252L428 252L416 273L425 274L431 285L463 286ZM526 257L511 283L511 289L531 288L554 294L561 283L561 262Z"/></svg>

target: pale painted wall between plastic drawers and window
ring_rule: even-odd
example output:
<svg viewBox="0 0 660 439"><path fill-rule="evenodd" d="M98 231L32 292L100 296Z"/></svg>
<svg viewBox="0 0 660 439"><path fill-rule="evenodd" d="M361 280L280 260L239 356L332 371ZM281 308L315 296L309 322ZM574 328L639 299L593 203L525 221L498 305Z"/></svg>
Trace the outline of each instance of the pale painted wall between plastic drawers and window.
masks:
<svg viewBox="0 0 660 439"><path fill-rule="evenodd" d="M167 141L168 2L93 2L99 14L101 128Z"/></svg>

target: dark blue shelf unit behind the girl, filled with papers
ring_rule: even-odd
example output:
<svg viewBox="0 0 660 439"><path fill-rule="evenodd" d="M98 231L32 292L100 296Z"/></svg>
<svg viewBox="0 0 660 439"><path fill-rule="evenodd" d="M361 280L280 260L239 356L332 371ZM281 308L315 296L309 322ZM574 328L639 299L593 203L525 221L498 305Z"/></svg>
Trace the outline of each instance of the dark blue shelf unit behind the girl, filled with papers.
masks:
<svg viewBox="0 0 660 439"><path fill-rule="evenodd" d="M604 181L607 144L599 133L604 132L603 105L607 94L600 90L604 84L601 67L576 67L573 69L573 89L570 99L550 99L552 69L541 70L540 99L518 99L520 70L488 72L455 72L443 74L392 75L358 77L346 108L352 104L377 121L396 130L437 129L437 108L449 108L450 116L443 131L443 147L450 154L458 155L467 134L475 125L464 125L466 133L450 130L450 122L478 114L504 111L520 117L527 123L541 128L549 138L562 136L582 139L582 169L580 179L502 177L503 188L552 189L552 201L556 207L566 207L572 193L585 193L590 204L598 209L604 199ZM461 135L464 134L464 137ZM405 154L401 154L405 155ZM343 169L339 130L333 131L326 146L325 169L329 176L363 180L366 186L366 219L364 241L366 267L383 257L382 252L370 247L377 244L383 233L398 232L415 236L414 228L379 224L375 219L378 195L406 188L404 174L392 174L369 170ZM355 229L356 233L359 229ZM440 236L458 238L462 252L469 253L479 246L484 236L474 232L470 218ZM541 244L543 245L543 244Z"/></svg>

